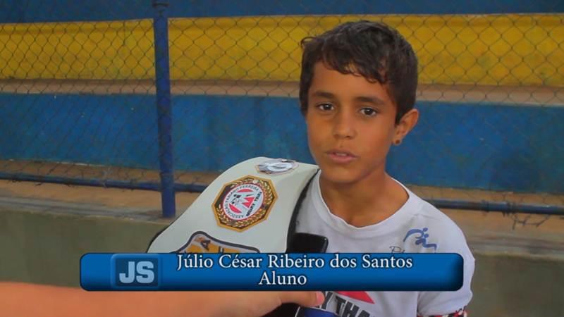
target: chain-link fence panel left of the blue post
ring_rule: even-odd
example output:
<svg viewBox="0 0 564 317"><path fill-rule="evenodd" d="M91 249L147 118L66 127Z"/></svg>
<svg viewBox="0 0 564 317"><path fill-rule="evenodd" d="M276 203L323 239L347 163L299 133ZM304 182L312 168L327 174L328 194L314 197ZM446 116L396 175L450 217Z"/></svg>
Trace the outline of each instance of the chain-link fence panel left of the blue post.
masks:
<svg viewBox="0 0 564 317"><path fill-rule="evenodd" d="M152 20L123 20L119 1L53 2L0 4L0 171L154 179L125 168L158 168Z"/></svg>

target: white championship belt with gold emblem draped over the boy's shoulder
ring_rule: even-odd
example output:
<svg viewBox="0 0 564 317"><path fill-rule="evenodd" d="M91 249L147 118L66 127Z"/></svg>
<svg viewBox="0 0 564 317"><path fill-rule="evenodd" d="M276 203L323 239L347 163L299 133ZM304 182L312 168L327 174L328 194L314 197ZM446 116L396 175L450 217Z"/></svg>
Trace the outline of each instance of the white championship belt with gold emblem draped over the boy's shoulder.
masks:
<svg viewBox="0 0 564 317"><path fill-rule="evenodd" d="M317 166L257 157L219 175L147 252L283 252ZM301 202L301 201L300 201Z"/></svg>

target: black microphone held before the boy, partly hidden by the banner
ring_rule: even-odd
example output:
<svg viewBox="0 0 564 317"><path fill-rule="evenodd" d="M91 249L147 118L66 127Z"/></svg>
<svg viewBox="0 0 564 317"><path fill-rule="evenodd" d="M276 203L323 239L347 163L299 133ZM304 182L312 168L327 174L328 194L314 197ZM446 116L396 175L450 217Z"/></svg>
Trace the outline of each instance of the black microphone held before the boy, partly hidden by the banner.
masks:
<svg viewBox="0 0 564 317"><path fill-rule="evenodd" d="M286 253L324 253L327 250L329 240L321 235L311 233L295 232L290 238ZM263 317L294 317L298 313L298 304L282 304L274 311Z"/></svg>

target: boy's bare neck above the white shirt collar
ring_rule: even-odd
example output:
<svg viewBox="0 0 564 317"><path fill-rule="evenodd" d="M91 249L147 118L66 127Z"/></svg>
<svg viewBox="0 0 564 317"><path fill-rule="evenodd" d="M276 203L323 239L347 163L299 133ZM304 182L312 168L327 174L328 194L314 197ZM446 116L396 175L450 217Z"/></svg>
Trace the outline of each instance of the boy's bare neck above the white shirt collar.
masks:
<svg viewBox="0 0 564 317"><path fill-rule="evenodd" d="M354 183L335 183L321 173L321 196L333 215L355 227L374 225L398 211L407 192L384 170Z"/></svg>

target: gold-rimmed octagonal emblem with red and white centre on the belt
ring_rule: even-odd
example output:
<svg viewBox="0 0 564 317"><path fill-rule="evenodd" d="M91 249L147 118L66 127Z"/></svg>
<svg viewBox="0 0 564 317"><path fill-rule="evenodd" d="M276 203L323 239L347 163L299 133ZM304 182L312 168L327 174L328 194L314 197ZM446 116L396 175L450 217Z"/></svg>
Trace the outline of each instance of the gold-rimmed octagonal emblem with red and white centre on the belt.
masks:
<svg viewBox="0 0 564 317"><path fill-rule="evenodd" d="M245 176L223 185L214 201L218 224L239 231L264 220L276 201L270 180Z"/></svg>

